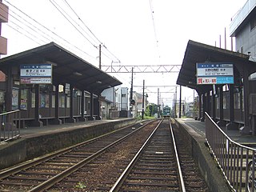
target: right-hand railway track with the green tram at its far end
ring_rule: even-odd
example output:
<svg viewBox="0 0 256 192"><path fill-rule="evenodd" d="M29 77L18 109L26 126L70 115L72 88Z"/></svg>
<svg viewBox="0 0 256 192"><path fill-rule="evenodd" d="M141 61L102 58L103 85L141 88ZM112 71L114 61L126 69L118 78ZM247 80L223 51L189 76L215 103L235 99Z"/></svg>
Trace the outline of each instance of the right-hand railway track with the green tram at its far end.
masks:
<svg viewBox="0 0 256 192"><path fill-rule="evenodd" d="M110 191L209 190L185 142L179 137L177 147L170 122L164 120Z"/></svg>

